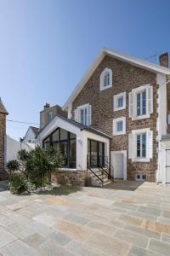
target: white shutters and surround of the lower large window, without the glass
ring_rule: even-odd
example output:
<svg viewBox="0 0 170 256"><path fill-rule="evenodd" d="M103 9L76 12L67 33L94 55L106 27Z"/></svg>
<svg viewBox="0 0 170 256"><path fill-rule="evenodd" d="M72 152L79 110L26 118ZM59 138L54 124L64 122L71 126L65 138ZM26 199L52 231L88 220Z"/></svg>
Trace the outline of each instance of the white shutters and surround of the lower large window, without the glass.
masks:
<svg viewBox="0 0 170 256"><path fill-rule="evenodd" d="M141 135L146 133L146 157L137 157L137 135ZM149 135L151 134L151 145L149 145ZM150 128L144 128L139 130L133 130L131 134L129 134L131 140L128 142L128 158L132 159L133 162L150 162L150 159L153 157L153 152L151 152L151 156L149 155L149 146L151 147L151 151L153 151L153 131L150 131ZM131 145L130 145L131 143Z"/></svg>

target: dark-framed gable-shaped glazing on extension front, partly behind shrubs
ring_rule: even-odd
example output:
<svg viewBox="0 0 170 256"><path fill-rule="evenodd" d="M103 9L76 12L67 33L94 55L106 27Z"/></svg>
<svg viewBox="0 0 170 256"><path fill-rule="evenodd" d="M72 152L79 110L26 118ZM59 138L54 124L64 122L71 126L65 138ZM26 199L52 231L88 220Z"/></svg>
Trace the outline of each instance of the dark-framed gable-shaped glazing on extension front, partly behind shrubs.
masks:
<svg viewBox="0 0 170 256"><path fill-rule="evenodd" d="M76 168L77 162L77 140L76 134L64 129L57 128L42 142L42 147L48 149L53 147L57 152L64 155L63 167Z"/></svg>

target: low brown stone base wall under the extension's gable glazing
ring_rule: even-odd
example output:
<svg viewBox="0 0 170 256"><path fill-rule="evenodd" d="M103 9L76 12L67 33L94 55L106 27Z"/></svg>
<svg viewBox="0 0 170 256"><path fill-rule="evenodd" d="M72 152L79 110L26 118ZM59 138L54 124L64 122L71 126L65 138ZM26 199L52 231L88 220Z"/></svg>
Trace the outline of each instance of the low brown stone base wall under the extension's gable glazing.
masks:
<svg viewBox="0 0 170 256"><path fill-rule="evenodd" d="M85 186L87 171L57 170L52 175L52 182L61 185Z"/></svg>

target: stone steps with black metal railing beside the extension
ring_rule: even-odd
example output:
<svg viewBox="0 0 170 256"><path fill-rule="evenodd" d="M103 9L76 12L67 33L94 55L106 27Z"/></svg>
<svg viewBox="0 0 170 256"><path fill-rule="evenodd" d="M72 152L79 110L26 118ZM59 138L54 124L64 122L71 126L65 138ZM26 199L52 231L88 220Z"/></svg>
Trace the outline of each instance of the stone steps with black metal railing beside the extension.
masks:
<svg viewBox="0 0 170 256"><path fill-rule="evenodd" d="M109 173L108 168L92 168L88 167L88 175L92 178L92 185L96 187L104 187L105 185L111 183L111 180L108 178Z"/></svg>

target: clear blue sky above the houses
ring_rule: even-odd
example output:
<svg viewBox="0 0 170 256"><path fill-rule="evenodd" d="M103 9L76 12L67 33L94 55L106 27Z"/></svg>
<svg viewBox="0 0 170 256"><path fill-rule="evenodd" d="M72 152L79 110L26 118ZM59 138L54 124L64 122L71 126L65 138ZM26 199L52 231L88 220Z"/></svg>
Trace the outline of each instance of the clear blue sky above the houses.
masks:
<svg viewBox="0 0 170 256"><path fill-rule="evenodd" d="M0 0L8 119L39 123L45 102L63 105L104 46L141 58L170 51L169 9L166 0ZM7 122L7 133L19 139L28 126Z"/></svg>

